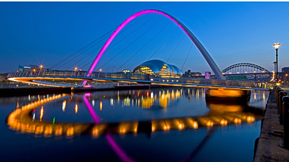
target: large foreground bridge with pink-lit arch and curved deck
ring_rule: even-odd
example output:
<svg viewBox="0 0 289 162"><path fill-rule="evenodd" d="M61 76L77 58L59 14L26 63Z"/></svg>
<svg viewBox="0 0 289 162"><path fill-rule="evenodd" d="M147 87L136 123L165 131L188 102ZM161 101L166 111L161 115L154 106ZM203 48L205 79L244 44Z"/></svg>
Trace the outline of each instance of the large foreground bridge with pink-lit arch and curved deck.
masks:
<svg viewBox="0 0 289 162"><path fill-rule="evenodd" d="M212 71L215 73L217 80L204 80L204 79L195 79L195 78L146 78L142 75L134 74L122 74L122 73L101 73L94 72L98 61L103 56L105 50L111 43L111 41L116 37L116 35L122 30L127 23L135 19L136 17L142 14L156 13L162 14L167 18L171 19L175 24L180 27L187 36L193 41L195 46L200 50L205 60L208 62L208 65L211 67ZM238 64L240 67L242 64ZM249 64L246 64L248 66ZM237 66L237 65L235 65ZM244 65L242 65L244 67ZM252 65L251 65L252 67ZM257 67L257 66L255 66ZM257 67L260 69L260 67ZM24 73L9 73L8 80L16 82L27 82L32 84L43 84L49 86L70 86L74 85L64 85L64 84L55 84L53 82L47 82L46 80L80 80L82 81L82 86L85 86L87 81L100 81L100 82L126 82L133 84L158 84L158 85L167 85L167 86L198 86L206 87L209 89L233 89L233 90L268 90L272 89L273 85L266 82L242 82L242 81L232 81L226 80L222 75L219 67L215 64L213 58L208 54L208 51L203 47L199 40L193 35L193 33L178 19L171 16L166 12L161 12L159 10L142 10L129 16L111 36L107 39L105 45L100 49L96 58L92 62L92 65L89 67L88 71L26 71Z"/></svg>

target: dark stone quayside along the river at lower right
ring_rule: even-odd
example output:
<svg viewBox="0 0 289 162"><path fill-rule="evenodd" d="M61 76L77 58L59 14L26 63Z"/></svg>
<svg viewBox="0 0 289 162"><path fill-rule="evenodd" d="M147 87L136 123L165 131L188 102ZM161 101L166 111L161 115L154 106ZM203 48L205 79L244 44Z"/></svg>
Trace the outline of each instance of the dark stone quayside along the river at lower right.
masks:
<svg viewBox="0 0 289 162"><path fill-rule="evenodd" d="M282 132L283 135L283 126L277 124L279 123L279 114L277 112L274 91L270 91L266 113L261 124L259 140L256 140L254 162L289 161L289 150L279 146L279 144L283 143L283 137L272 133Z"/></svg>

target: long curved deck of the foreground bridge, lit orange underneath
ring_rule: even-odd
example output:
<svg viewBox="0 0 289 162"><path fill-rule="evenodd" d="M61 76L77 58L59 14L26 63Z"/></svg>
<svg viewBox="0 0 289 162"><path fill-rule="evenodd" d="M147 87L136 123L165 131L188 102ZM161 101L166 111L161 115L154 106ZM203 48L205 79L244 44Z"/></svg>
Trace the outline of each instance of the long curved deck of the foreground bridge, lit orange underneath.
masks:
<svg viewBox="0 0 289 162"><path fill-rule="evenodd" d="M125 73L101 73L93 72L87 77L85 71L39 71L25 73L9 73L8 80L17 82L27 82L32 84L44 84L48 86L70 86L45 82L43 80L89 80L100 82L125 82L133 84L158 84L168 86L195 86L210 89L237 89L237 90L257 90L268 91L273 88L273 84L266 82L246 82L237 80L208 80L200 78L156 78L153 76L125 74Z"/></svg>

